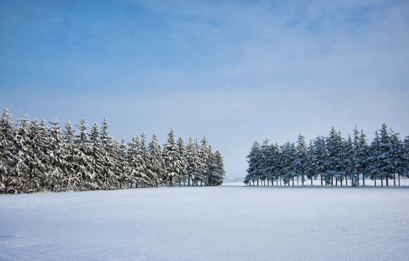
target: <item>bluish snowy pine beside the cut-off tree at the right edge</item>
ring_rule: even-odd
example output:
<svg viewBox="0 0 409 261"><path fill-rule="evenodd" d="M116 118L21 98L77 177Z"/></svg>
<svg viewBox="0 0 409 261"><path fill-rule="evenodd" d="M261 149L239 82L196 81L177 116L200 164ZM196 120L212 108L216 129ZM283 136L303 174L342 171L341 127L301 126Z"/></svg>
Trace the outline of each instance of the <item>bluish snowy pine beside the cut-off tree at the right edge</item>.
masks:
<svg viewBox="0 0 409 261"><path fill-rule="evenodd" d="M398 174L398 185L400 186L400 176L403 175L405 155L403 143L400 140L400 133L390 128L391 151L389 151L390 162L393 172L393 186L396 186L396 174Z"/></svg>

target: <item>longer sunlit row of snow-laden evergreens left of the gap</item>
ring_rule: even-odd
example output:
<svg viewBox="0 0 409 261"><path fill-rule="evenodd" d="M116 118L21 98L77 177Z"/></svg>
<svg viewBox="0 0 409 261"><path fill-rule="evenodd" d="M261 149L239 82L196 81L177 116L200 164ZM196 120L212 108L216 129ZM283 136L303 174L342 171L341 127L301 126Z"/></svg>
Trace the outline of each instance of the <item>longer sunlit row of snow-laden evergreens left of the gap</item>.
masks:
<svg viewBox="0 0 409 261"><path fill-rule="evenodd" d="M175 140L173 129L163 148L155 133L146 146L146 136L133 137L126 144L109 135L106 119L100 129L90 128L82 119L78 134L70 121L61 130L57 118L47 127L45 120L30 120L27 114L11 121L7 108L0 119L0 191L120 189L157 187L158 184L220 185L225 163L215 153L206 136L199 146L193 136L185 146L182 137Z"/></svg>

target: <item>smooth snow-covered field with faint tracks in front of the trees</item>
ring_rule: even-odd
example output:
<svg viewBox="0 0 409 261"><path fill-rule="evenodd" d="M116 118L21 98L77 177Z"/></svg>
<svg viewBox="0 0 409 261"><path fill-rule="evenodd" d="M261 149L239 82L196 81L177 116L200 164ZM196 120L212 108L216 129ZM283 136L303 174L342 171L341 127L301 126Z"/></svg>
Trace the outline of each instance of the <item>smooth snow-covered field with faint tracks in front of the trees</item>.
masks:
<svg viewBox="0 0 409 261"><path fill-rule="evenodd" d="M408 260L409 187L229 185L0 195L0 260Z"/></svg>

